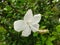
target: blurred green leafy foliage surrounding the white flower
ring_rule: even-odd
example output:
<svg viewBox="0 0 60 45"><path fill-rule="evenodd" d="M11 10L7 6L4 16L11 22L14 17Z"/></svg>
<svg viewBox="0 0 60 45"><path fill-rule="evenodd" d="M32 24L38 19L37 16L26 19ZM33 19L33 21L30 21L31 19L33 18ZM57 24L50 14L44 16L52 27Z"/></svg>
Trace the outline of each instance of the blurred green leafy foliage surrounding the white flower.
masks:
<svg viewBox="0 0 60 45"><path fill-rule="evenodd" d="M13 23L23 19L26 11L42 14L40 29L49 33L33 33L21 37ZM0 45L60 45L60 0L0 0Z"/></svg>

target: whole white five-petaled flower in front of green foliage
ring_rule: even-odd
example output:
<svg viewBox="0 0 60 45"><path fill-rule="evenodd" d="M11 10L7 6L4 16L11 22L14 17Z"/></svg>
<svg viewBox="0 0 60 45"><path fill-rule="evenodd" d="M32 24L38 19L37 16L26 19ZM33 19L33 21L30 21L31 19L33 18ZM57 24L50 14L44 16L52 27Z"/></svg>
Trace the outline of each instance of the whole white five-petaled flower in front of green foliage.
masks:
<svg viewBox="0 0 60 45"><path fill-rule="evenodd" d="M29 36L32 32L39 30L39 21L41 20L41 14L34 15L32 10L29 9L24 16L23 20L17 20L14 22L14 29L17 32L22 31L22 36Z"/></svg>

